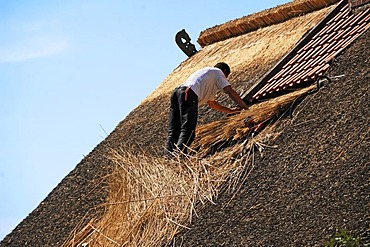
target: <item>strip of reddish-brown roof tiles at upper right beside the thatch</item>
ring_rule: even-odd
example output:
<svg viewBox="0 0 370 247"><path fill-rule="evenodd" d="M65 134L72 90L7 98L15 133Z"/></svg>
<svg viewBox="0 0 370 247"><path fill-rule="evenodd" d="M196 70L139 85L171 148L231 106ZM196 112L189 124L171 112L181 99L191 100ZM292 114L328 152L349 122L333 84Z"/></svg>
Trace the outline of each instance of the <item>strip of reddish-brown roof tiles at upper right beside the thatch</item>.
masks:
<svg viewBox="0 0 370 247"><path fill-rule="evenodd" d="M342 1L263 79L244 95L252 102L322 76L331 61L370 27L370 8L351 11Z"/></svg>

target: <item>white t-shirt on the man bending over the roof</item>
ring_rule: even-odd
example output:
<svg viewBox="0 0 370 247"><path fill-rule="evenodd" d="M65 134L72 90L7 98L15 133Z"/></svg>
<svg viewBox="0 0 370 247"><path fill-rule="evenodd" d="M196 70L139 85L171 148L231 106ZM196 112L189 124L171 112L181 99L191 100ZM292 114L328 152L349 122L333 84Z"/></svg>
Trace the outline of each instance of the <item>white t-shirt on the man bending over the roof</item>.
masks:
<svg viewBox="0 0 370 247"><path fill-rule="evenodd" d="M216 93L229 86L230 83L222 70L206 67L191 74L182 85L194 91L198 96L198 104L201 105L207 103L208 100L214 100Z"/></svg>

